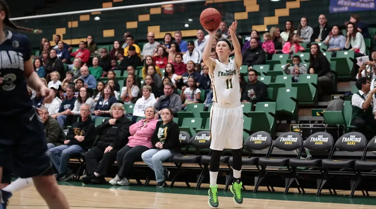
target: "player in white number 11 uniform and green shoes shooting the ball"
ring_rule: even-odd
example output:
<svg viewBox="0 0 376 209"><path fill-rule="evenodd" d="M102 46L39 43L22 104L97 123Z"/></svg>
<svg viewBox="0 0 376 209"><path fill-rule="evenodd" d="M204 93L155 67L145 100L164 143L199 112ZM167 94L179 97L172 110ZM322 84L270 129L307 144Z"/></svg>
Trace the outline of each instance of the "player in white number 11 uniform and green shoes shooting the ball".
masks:
<svg viewBox="0 0 376 209"><path fill-rule="evenodd" d="M235 58L229 60L231 43L221 38L217 42L215 51L218 60L210 58L211 46L215 38L215 30L206 30L209 33L209 41L205 46L202 59L209 67L209 77L213 85L213 106L210 110L210 134L211 134L211 160L210 160L210 188L209 206L218 208L217 176L220 157L223 149L231 149L233 157L233 184L230 191L233 200L237 204L243 203L241 194L241 148L243 146L243 109L240 105L240 84L238 80L239 68L243 61L240 43L236 36L238 22L230 26Z"/></svg>

